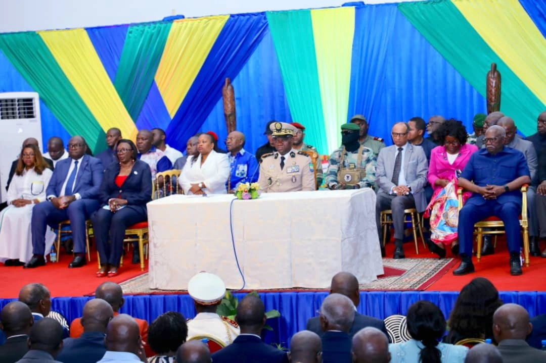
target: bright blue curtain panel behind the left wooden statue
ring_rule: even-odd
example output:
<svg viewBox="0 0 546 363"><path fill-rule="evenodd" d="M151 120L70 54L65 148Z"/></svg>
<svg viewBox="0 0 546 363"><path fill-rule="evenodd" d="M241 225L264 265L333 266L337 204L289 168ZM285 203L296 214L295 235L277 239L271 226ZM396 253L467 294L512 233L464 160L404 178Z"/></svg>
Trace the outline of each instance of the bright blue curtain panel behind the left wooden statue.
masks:
<svg viewBox="0 0 546 363"><path fill-rule="evenodd" d="M235 89L237 130L247 137L245 149L254 153L267 142L263 135L266 123L271 120L292 122L269 28L232 84ZM227 137L227 128L222 99L218 100L200 128L201 132L209 130L218 134L219 146L225 148L223 140Z"/></svg>

